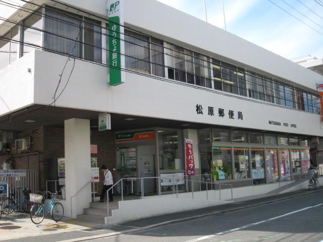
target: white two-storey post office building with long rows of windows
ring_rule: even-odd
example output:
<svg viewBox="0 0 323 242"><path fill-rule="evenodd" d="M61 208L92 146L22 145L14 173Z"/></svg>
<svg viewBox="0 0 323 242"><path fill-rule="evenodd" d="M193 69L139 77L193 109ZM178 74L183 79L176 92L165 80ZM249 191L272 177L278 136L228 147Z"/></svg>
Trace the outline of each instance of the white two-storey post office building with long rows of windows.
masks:
<svg viewBox="0 0 323 242"><path fill-rule="evenodd" d="M323 137L323 76L157 1L124 0L123 11L118 86L105 0L37 0L0 24L3 146L8 134L31 136L23 154L41 150L40 187L59 178L50 159L65 158L71 216L90 202L91 158L115 181L183 174L188 139L195 174L214 182L268 184L309 167L310 143ZM100 113L111 114L111 131L98 132ZM9 148L3 156L18 159ZM156 189L151 179L145 193Z"/></svg>

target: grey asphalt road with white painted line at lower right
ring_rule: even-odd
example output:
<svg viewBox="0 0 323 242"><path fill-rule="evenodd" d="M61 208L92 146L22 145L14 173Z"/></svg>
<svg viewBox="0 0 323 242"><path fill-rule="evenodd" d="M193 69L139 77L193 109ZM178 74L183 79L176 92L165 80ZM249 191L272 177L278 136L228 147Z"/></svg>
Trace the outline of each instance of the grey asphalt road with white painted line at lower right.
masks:
<svg viewBox="0 0 323 242"><path fill-rule="evenodd" d="M91 242L323 242L323 193Z"/></svg>

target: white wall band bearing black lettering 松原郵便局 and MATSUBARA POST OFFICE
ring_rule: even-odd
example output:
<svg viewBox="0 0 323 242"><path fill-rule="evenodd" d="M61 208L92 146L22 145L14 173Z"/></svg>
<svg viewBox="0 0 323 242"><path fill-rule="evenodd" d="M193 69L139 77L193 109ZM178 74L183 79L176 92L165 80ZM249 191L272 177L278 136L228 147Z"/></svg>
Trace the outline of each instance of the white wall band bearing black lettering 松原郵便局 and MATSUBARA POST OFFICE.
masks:
<svg viewBox="0 0 323 242"><path fill-rule="evenodd" d="M52 101L65 61L65 56L36 51L35 103L48 104ZM72 61L68 64L58 93L65 86L71 65ZM323 136L318 114L268 105L269 103L255 103L255 99L251 98L235 98L226 96L228 93L221 95L213 90L200 90L194 86L183 86L136 74L126 73L126 78L125 84L111 87L107 83L105 67L76 61L72 78L56 105L182 120L183 123ZM196 104L202 105L203 115L196 113ZM207 115L208 106L214 107L214 116ZM225 117L219 117L218 108L225 109ZM229 110L234 111L234 119L229 118ZM238 111L242 112L243 120L238 119ZM282 126L270 125L269 120L281 122ZM289 127L284 127L283 123L288 123ZM297 128L291 128L290 124L295 124Z"/></svg>

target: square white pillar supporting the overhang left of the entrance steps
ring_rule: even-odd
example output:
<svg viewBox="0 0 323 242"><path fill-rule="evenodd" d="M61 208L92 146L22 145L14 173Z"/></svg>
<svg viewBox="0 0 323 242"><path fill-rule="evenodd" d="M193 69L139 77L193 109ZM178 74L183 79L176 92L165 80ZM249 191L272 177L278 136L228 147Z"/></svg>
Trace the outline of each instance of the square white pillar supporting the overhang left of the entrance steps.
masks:
<svg viewBox="0 0 323 242"><path fill-rule="evenodd" d="M65 215L76 218L91 202L90 120L65 120Z"/></svg>

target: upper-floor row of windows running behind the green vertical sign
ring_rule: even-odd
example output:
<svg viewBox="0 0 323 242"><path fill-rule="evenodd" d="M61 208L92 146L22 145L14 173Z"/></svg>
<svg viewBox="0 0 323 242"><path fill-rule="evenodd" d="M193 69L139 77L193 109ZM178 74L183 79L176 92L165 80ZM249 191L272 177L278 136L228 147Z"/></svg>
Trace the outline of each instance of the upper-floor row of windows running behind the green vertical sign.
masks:
<svg viewBox="0 0 323 242"><path fill-rule="evenodd" d="M23 30L20 36L19 28ZM30 45L33 44L45 50L101 63L102 32L105 31L102 31L99 21L56 9L39 10L6 34L5 37L12 41L0 39L0 69L15 61L18 52L19 56L30 52L34 48ZM130 30L125 30L121 38L125 42L125 66L132 71L308 112L318 113L320 109L317 95L270 77ZM19 45L15 42L19 40L27 44ZM106 53L106 56L106 61L109 61L109 54Z"/></svg>

